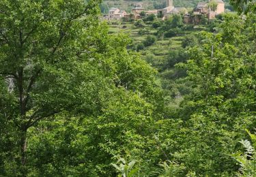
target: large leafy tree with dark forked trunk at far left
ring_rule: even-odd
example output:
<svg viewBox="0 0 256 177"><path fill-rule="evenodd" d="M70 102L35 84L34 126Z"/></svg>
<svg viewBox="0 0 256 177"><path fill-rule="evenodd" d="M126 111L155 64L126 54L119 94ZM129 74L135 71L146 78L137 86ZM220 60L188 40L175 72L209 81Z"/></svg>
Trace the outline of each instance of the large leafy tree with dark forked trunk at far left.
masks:
<svg viewBox="0 0 256 177"><path fill-rule="evenodd" d="M89 47L94 39L88 37L98 28L98 4L0 2L1 82L8 82L3 89L9 90L6 94L13 105L12 110L1 108L1 112L18 129L21 167L26 164L27 129L85 101L78 99L82 94L79 71L83 72L79 65L93 57Z"/></svg>

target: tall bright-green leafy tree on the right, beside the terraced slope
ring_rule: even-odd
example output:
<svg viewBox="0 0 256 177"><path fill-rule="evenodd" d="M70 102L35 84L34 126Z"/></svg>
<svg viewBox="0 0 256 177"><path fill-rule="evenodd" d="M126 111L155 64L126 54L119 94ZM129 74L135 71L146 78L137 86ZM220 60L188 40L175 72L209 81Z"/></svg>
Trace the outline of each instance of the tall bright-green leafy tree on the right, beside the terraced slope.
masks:
<svg viewBox="0 0 256 177"><path fill-rule="evenodd" d="M180 112L190 140L186 152L176 157L198 175L232 176L236 161L227 153L240 148L238 141L246 135L244 129L252 131L255 127L256 58L251 45L254 39L248 35L251 25L236 15L225 15L221 32L201 33L201 45L190 48L190 59L180 65L187 69L194 91Z"/></svg>

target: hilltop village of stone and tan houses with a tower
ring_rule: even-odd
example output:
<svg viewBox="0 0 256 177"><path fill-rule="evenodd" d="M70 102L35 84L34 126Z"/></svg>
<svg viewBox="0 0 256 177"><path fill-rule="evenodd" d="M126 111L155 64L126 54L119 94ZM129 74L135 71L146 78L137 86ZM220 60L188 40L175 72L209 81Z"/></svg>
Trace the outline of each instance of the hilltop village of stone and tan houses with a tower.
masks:
<svg viewBox="0 0 256 177"><path fill-rule="evenodd" d="M167 0L167 7L160 10L145 10L142 4L132 8L131 13L119 8L111 7L109 13L104 16L106 20L138 20L143 16L154 15L162 20L171 16L171 14L182 14L185 23L198 23L200 16L205 16L209 20L214 19L218 14L225 11L225 3L222 0L212 0L210 2L199 2L192 12L188 12L185 7L174 7L173 0Z"/></svg>

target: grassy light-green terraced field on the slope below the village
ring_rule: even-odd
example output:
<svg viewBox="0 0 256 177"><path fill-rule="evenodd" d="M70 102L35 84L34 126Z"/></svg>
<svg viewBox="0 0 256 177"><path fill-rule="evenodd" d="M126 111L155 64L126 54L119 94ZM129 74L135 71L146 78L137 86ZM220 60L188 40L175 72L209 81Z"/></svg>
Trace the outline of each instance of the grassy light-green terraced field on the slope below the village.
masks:
<svg viewBox="0 0 256 177"><path fill-rule="evenodd" d="M155 35L156 42L144 50L140 50L142 59L150 63L152 67L158 70L158 76L162 88L165 89L166 99L169 102L169 108L177 108L180 102L183 100L182 93L189 91L187 82L184 82L182 78L186 75L184 71L176 69L173 63L173 53L177 53L182 48L182 41L186 35L191 33L197 33L197 31L182 31L183 35L175 37L163 37L157 36L157 29L154 29L150 23L143 24L141 28L135 27L134 22L113 22L110 25L109 33L128 33L132 39L132 45L142 43L147 35ZM141 29L146 30L143 35L139 34ZM132 48L130 49L132 50Z"/></svg>

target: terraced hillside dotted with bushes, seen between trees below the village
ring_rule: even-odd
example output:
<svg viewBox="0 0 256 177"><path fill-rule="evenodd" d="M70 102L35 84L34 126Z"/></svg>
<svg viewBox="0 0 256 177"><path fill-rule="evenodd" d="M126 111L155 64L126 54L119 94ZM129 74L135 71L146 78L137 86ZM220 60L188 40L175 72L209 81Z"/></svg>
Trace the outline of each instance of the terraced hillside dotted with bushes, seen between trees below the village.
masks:
<svg viewBox="0 0 256 177"><path fill-rule="evenodd" d="M182 18L180 15L175 17L178 20ZM195 37L200 31L210 31L218 24L218 20L212 20L210 25L185 25L180 20L177 27L171 26L171 18L165 22L155 19L154 21L137 20L135 22L112 21L110 24L109 33L128 34L132 39L128 49L139 51L142 59L157 69L167 103L177 108L183 97L191 90L188 82L183 81L186 76L184 71L175 68L175 64L186 61L186 54L184 54L186 40ZM158 27L155 27L156 24ZM180 30L169 36L168 30L171 29ZM149 36L155 38L155 41L145 46L143 43Z"/></svg>

